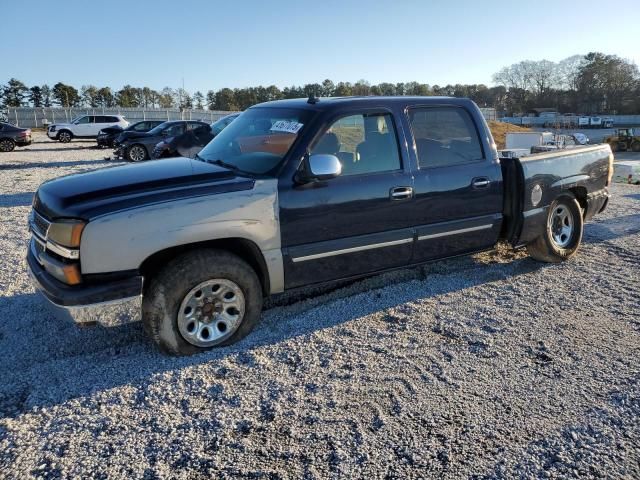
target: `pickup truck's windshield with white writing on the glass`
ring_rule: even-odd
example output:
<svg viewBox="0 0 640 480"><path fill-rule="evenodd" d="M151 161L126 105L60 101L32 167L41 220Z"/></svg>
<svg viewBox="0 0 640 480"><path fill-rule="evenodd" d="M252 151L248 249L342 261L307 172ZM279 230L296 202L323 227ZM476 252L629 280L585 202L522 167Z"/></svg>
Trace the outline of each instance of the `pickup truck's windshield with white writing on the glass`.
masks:
<svg viewBox="0 0 640 480"><path fill-rule="evenodd" d="M249 174L268 174L291 149L310 115L308 110L251 108L211 140L198 158Z"/></svg>

